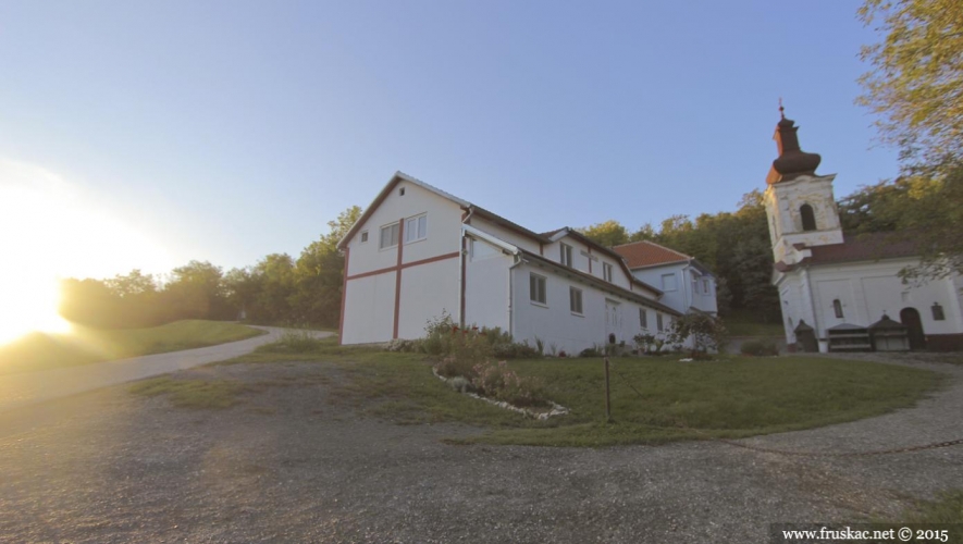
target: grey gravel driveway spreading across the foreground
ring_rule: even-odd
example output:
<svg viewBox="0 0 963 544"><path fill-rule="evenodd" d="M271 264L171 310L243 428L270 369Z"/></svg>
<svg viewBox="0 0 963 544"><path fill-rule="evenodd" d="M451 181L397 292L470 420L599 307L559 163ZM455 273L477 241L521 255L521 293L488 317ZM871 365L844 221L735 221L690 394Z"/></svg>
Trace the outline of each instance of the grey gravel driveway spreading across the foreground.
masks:
<svg viewBox="0 0 963 544"><path fill-rule="evenodd" d="M745 441L849 452L963 437L963 367L917 407ZM774 522L896 516L963 487L963 447L852 458L719 443L453 446L338 396L336 366L202 367L257 386L221 411L113 387L0 413L0 540L765 542Z"/></svg>

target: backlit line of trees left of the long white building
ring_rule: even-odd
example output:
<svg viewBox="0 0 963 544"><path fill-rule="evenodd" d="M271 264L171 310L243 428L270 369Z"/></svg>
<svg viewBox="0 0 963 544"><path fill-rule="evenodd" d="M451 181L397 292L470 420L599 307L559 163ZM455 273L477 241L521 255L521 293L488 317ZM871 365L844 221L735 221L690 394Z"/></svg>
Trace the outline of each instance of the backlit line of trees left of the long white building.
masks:
<svg viewBox="0 0 963 544"><path fill-rule="evenodd" d="M344 255L336 246L360 215L357 206L343 211L297 259L271 254L226 272L208 261L190 261L164 282L139 270L108 280L67 279L61 282L60 313L97 327L240 318L336 327L344 274Z"/></svg>

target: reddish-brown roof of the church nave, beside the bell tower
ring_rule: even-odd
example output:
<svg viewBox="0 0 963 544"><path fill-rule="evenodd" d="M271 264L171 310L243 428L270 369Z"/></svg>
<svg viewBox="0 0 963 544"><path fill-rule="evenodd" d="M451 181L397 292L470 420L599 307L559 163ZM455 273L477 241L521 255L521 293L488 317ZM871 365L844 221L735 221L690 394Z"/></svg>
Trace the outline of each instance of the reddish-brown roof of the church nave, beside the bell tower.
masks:
<svg viewBox="0 0 963 544"><path fill-rule="evenodd" d="M882 259L900 259L917 257L919 251L912 239L900 237L893 239L893 233L843 233L842 244L806 247L795 244L797 250L807 250L812 255L795 264L782 261L776 263L776 270L788 272L803 264L836 264L842 262L878 261Z"/></svg>

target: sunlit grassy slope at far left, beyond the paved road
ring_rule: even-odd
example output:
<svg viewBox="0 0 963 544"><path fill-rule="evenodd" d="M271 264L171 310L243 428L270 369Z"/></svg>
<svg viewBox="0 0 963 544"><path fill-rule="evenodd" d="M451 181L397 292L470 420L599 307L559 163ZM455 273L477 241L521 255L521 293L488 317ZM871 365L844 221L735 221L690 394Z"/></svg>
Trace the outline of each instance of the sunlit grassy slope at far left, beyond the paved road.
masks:
<svg viewBox="0 0 963 544"><path fill-rule="evenodd" d="M0 346L0 375L213 346L260 334L257 329L236 323L202 320L145 329L75 325L69 334L33 333Z"/></svg>

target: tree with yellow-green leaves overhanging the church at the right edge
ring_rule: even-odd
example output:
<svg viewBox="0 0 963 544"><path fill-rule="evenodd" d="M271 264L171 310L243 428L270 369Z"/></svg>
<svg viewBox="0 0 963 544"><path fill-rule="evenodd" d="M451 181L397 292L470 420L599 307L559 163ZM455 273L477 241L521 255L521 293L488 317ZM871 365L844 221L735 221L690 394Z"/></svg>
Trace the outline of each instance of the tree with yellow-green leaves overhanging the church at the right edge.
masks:
<svg viewBox="0 0 963 544"><path fill-rule="evenodd" d="M892 227L892 238L916 244L921 264L904 277L963 273L963 2L866 0L859 15L866 25L879 22L884 38L862 50L872 70L857 102L880 115L881 139L900 148L903 176L867 191L868 202L853 202L865 210L849 211L871 222L881 215L882 225L869 226ZM871 210L875 217L863 213Z"/></svg>

